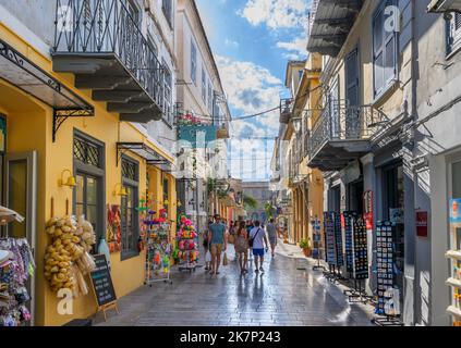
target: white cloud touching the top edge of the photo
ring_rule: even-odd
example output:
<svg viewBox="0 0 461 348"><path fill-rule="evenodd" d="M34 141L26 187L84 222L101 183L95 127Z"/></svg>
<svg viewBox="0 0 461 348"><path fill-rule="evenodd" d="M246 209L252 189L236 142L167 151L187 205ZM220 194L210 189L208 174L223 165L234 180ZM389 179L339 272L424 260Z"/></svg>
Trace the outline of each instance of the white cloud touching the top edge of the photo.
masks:
<svg viewBox="0 0 461 348"><path fill-rule="evenodd" d="M270 29L295 28L306 21L307 0L248 0L238 14L252 25L266 24Z"/></svg>

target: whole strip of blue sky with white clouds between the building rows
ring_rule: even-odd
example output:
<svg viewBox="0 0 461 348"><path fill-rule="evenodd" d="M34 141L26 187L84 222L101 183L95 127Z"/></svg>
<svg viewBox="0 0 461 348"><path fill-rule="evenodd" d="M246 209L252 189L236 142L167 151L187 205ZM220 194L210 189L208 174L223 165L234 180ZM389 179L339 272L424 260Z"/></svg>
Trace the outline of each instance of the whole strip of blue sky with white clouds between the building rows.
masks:
<svg viewBox="0 0 461 348"><path fill-rule="evenodd" d="M308 0L196 0L232 116L272 109L287 97L288 60L306 58ZM244 181L269 179L278 112L232 122L230 170ZM248 137L253 139L248 139Z"/></svg>

